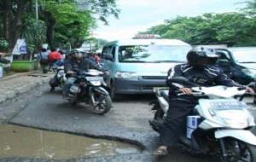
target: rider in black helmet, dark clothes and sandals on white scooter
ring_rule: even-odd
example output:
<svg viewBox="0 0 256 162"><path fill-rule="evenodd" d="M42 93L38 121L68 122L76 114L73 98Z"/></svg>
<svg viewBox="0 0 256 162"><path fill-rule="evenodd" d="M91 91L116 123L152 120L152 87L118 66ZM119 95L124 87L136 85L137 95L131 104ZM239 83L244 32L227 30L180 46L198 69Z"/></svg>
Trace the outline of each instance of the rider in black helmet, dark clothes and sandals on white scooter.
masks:
<svg viewBox="0 0 256 162"><path fill-rule="evenodd" d="M170 148L172 149L177 145L177 138L183 128L186 116L198 104L199 97L191 95L192 90L189 86L172 83L171 78L188 78L190 82L206 87L214 85L243 87L248 92L254 93L253 89L236 84L233 80L227 78L221 69L214 67L217 61L218 55L213 49L196 47L188 52L187 63L177 65L169 70L166 79L166 84L170 87L169 109L164 125L160 129L160 147L154 151L154 155L166 155ZM177 95L179 93L184 95Z"/></svg>

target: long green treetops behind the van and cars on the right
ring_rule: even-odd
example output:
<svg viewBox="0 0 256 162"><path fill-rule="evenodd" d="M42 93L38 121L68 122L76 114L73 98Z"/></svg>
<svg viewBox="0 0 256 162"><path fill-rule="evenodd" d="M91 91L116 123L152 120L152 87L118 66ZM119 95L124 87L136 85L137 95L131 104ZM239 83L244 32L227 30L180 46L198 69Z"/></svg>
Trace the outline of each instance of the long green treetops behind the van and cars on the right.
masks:
<svg viewBox="0 0 256 162"><path fill-rule="evenodd" d="M177 38L191 44L256 45L255 18L240 13L177 17L153 26L146 33Z"/></svg>

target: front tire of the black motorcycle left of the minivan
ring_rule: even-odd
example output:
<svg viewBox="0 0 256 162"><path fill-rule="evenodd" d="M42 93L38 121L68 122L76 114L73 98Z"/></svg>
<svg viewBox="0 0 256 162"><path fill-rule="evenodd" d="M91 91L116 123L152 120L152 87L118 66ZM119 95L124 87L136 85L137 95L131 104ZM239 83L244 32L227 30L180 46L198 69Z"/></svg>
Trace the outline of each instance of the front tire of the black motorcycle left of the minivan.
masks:
<svg viewBox="0 0 256 162"><path fill-rule="evenodd" d="M94 113L103 115L103 114L109 112L110 108L112 107L112 100L109 95L106 95L104 97L102 103L100 103L96 106L93 106L92 101L90 101L90 105L91 105Z"/></svg>

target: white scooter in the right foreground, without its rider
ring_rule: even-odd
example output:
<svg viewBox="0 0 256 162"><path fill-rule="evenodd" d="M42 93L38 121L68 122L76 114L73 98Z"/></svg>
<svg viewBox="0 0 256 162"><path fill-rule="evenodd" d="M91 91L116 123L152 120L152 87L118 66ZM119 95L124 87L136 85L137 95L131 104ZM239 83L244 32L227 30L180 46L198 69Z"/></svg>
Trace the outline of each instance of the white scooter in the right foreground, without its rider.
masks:
<svg viewBox="0 0 256 162"><path fill-rule="evenodd" d="M187 78L172 78L172 82L195 86ZM245 102L233 98L242 98L246 90L226 86L191 89L192 95L203 98L195 106L194 114L187 116L178 146L190 153L216 156L222 162L256 161L256 136L250 131L255 126L253 115ZM155 95L157 101L152 109L156 112L149 124L160 132L169 107L168 90L156 89Z"/></svg>

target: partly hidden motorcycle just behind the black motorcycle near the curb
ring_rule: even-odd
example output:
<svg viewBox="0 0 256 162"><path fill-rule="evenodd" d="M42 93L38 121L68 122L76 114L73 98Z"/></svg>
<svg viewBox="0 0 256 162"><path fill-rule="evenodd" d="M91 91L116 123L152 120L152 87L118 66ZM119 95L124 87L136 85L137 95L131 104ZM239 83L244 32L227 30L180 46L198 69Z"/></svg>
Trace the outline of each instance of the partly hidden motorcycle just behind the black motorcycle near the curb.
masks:
<svg viewBox="0 0 256 162"><path fill-rule="evenodd" d="M55 72L55 76L49 80L50 91L55 90L55 87L60 87L62 89L67 80L64 66L54 66L52 69Z"/></svg>

